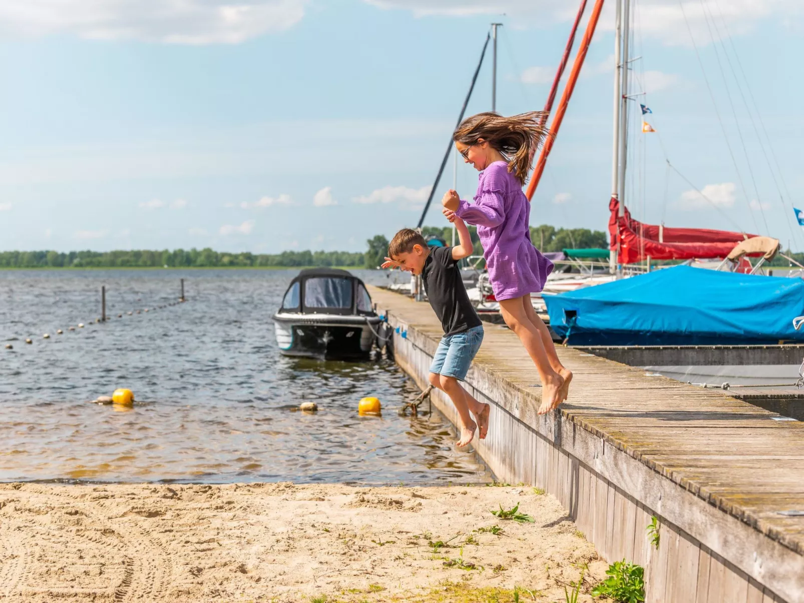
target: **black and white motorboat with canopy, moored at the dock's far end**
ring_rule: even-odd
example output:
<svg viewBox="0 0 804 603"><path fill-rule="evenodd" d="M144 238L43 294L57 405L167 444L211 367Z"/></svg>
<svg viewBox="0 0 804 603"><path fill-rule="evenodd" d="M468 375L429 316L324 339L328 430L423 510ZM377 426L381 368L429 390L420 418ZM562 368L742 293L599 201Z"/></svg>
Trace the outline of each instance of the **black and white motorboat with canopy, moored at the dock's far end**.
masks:
<svg viewBox="0 0 804 603"><path fill-rule="evenodd" d="M286 356L363 359L381 319L366 285L346 270L314 268L293 278L273 315L277 346Z"/></svg>

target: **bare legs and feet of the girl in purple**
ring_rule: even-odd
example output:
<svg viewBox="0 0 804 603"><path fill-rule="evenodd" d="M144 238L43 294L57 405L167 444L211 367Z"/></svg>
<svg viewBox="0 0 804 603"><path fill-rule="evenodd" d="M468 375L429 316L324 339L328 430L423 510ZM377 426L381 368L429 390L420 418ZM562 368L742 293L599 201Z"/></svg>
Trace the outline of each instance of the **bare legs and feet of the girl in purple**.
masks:
<svg viewBox="0 0 804 603"><path fill-rule="evenodd" d="M527 302L530 303L530 293L525 297L527 297ZM560 404L560 389L564 385L564 377L551 366L542 335L525 312L523 298L504 299L499 301L499 305L503 320L519 337L519 341L522 342L528 355L531 356L531 360L536 365L536 371L539 371L539 379L542 382L542 404L539 406L539 414L543 415ZM555 352L555 348L553 348L553 351Z"/></svg>

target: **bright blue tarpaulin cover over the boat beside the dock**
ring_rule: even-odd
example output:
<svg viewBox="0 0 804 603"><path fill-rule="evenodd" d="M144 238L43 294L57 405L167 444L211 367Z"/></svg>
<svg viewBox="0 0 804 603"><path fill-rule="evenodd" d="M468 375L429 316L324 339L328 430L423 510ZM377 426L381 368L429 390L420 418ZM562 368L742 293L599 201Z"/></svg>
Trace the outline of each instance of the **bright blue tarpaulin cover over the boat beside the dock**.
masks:
<svg viewBox="0 0 804 603"><path fill-rule="evenodd" d="M544 295L550 326L576 346L804 342L804 281L675 266Z"/></svg>

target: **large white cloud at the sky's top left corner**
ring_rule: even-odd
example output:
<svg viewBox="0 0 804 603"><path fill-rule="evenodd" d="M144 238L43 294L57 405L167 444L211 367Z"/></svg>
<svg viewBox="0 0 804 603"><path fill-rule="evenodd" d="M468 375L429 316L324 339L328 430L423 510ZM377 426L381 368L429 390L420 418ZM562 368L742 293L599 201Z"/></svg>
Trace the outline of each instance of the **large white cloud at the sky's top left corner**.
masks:
<svg viewBox="0 0 804 603"><path fill-rule="evenodd" d="M168 44L234 44L284 31L308 0L0 0L6 35L72 34Z"/></svg>

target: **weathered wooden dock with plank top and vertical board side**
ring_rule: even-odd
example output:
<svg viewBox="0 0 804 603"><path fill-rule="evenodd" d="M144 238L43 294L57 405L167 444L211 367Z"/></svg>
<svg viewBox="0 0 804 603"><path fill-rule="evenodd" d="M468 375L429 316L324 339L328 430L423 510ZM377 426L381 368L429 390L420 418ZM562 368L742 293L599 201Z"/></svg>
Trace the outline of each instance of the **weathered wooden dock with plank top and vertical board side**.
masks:
<svg viewBox="0 0 804 603"><path fill-rule="evenodd" d="M371 296L424 388L442 334L433 311ZM466 384L492 405L475 449L498 479L548 490L607 560L645 567L651 603L804 603L804 423L568 348L569 400L537 416L531 359L507 327L484 326ZM440 392L433 402L456 420Z"/></svg>

